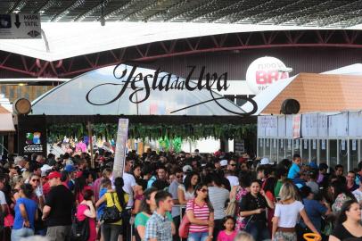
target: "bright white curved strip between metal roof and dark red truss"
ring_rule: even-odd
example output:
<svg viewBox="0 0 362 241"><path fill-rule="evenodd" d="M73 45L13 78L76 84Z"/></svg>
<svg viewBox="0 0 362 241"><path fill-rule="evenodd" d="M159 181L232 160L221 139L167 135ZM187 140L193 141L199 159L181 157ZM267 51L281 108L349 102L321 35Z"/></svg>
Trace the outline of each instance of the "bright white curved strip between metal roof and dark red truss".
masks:
<svg viewBox="0 0 362 241"><path fill-rule="evenodd" d="M0 50L45 61L187 37L320 27L192 22L42 22L42 39L1 39ZM361 26L349 29L361 29Z"/></svg>

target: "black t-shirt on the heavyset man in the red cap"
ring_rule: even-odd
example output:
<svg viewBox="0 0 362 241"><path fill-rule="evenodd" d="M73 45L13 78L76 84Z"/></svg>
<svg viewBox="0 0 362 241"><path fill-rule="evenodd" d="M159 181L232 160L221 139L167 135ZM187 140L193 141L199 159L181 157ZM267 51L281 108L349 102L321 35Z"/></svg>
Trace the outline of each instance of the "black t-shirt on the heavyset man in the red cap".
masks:
<svg viewBox="0 0 362 241"><path fill-rule="evenodd" d="M71 225L71 210L74 202L75 198L70 189L63 185L52 187L45 200L45 205L51 207L51 211L46 218L47 226Z"/></svg>

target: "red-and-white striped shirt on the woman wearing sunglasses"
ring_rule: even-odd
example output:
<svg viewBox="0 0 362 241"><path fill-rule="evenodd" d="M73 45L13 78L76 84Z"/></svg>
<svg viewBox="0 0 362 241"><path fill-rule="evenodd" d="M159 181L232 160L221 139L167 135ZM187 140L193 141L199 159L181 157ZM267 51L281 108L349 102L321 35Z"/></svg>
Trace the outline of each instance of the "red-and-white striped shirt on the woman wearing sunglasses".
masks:
<svg viewBox="0 0 362 241"><path fill-rule="evenodd" d="M193 211L193 217L197 220L209 220L210 211L208 204L204 203L201 206L194 203L194 199L187 202L186 205L186 212L187 211ZM208 232L209 226L208 225L198 225L191 223L190 224L190 233L202 233L202 232Z"/></svg>

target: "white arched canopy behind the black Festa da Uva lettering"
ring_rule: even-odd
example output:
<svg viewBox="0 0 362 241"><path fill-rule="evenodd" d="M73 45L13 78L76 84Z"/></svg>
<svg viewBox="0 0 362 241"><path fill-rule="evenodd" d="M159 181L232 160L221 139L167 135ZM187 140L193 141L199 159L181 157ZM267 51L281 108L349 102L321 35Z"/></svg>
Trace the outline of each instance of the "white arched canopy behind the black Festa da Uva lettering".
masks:
<svg viewBox="0 0 362 241"><path fill-rule="evenodd" d="M125 79L128 79L128 74L132 66L120 65L116 70L116 76L119 77L123 71L127 70L127 74L122 79L116 79L113 75L115 66L109 66L95 71L87 72L63 83L58 87L45 93L43 96L38 97L32 103L32 114L45 114L45 115L188 115L188 116L232 116L231 112L227 112L220 107L212 99L209 90L203 88L202 90L195 89L189 91L186 89L169 89L168 91L155 89L150 92L150 96L144 102L134 104L130 102L129 97L135 93L131 84L128 85L123 95L110 104L105 104L115 99L119 95L124 86ZM154 71L137 68L136 73L142 73L143 76L147 74L154 74ZM156 81L157 85L160 79L167 73L161 72ZM170 83L177 79L172 76ZM153 79L147 79L148 85L152 87ZM185 79L179 79L182 82ZM164 82L163 82L164 83ZM139 88L144 88L144 81L137 81L135 83L138 90L133 96L133 100L142 100L145 96L145 91ZM195 82L190 85L196 86ZM216 85L216 84L215 84ZM214 86L215 86L214 85ZM99 86L99 87L97 87ZM95 88L94 88L95 87ZM91 92L89 92L94 88ZM89 99L91 103L86 101L86 95L89 92ZM213 93L215 98L222 97L217 93ZM206 102L204 104L200 104ZM243 112L236 104L227 99L219 99L218 103L232 112ZM95 105L104 104L104 105ZM194 105L194 106L193 106ZM185 110L174 112L179 109L186 108Z"/></svg>

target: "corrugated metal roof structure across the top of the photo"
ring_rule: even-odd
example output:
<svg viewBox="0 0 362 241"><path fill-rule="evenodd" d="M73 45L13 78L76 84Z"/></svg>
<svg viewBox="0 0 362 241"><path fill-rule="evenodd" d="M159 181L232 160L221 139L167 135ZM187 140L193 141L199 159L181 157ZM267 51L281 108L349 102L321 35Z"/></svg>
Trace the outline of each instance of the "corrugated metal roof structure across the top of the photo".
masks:
<svg viewBox="0 0 362 241"><path fill-rule="evenodd" d="M362 23L360 0L3 0L0 12L42 21L177 21L346 28Z"/></svg>

